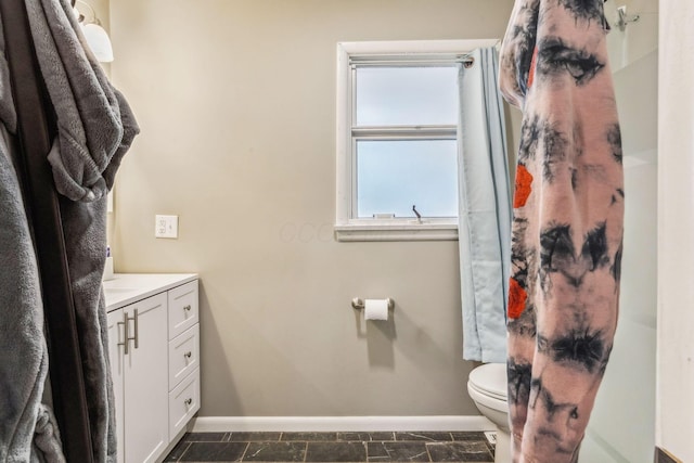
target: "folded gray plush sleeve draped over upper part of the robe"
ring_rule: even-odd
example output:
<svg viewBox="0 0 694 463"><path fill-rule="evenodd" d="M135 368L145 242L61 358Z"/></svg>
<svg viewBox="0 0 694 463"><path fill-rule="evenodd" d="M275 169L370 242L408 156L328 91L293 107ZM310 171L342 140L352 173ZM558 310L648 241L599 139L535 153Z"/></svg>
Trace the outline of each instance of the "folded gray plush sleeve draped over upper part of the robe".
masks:
<svg viewBox="0 0 694 463"><path fill-rule="evenodd" d="M86 46L67 0L26 0L36 54L57 115L49 154L55 187L92 202L113 187L120 159L139 129L125 98Z"/></svg>

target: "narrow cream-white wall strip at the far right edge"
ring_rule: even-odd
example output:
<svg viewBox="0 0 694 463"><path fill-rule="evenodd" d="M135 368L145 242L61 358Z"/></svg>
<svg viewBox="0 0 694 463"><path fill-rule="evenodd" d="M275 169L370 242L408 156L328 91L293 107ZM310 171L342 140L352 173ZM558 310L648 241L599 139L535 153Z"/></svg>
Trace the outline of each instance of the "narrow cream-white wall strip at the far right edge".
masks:
<svg viewBox="0 0 694 463"><path fill-rule="evenodd" d="M693 23L690 0L660 2L656 445L685 462L694 461Z"/></svg>

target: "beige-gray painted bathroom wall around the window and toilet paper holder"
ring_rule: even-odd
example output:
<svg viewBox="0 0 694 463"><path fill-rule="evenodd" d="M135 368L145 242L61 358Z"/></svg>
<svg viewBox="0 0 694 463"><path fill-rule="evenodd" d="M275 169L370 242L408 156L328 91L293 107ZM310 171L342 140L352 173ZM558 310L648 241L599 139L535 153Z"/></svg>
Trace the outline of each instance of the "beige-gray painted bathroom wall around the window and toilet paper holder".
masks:
<svg viewBox="0 0 694 463"><path fill-rule="evenodd" d="M458 242L336 243L335 44L501 38L512 0L118 0L113 80L142 127L119 272L202 278L201 415L477 414ZM180 216L178 240L154 215ZM352 297L393 297L365 326Z"/></svg>

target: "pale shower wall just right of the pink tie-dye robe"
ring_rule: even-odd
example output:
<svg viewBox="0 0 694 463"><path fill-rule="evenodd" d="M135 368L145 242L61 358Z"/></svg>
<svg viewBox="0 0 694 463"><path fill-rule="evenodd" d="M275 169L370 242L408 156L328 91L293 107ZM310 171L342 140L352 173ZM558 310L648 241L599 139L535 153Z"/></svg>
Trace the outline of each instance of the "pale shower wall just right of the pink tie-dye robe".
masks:
<svg viewBox="0 0 694 463"><path fill-rule="evenodd" d="M656 0L605 3L640 14L625 31L608 35L621 125L625 168L625 252L619 323L580 461L653 461L656 384L656 217L658 4Z"/></svg>

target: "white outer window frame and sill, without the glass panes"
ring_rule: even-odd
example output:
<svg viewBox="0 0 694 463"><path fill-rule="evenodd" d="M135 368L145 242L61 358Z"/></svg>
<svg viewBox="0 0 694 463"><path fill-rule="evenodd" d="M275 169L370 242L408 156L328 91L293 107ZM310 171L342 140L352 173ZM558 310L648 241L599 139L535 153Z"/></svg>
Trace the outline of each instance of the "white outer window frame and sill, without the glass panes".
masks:
<svg viewBox="0 0 694 463"><path fill-rule="evenodd" d="M356 153L352 142L352 60L362 62L424 59L460 60L473 50L493 47L498 39L364 41L337 43L337 241L440 241L458 240L458 218L356 218ZM422 133L425 136L426 133ZM460 137L459 137L460 139Z"/></svg>

